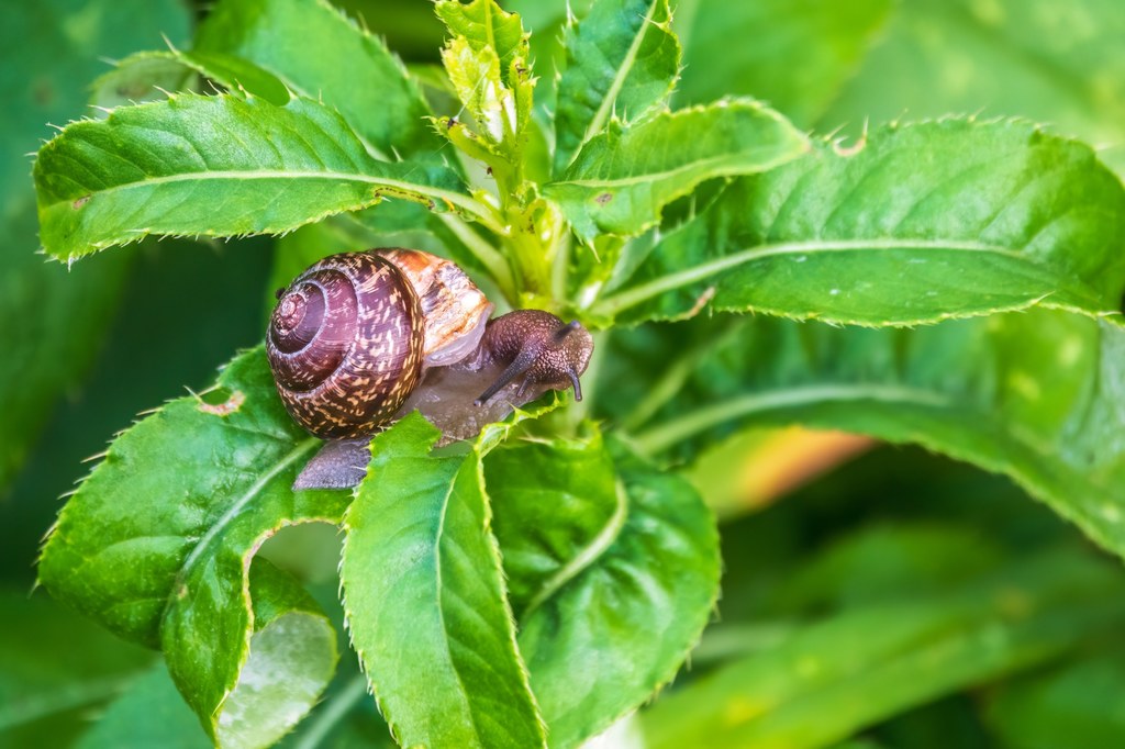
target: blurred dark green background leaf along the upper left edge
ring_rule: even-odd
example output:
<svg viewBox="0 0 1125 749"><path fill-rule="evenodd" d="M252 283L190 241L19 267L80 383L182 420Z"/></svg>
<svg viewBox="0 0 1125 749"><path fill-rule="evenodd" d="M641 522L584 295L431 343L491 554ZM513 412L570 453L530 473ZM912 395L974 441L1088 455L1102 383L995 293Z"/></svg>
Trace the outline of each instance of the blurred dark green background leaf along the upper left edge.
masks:
<svg viewBox="0 0 1125 749"><path fill-rule="evenodd" d="M105 57L189 34L178 0L45 0L4 8L0 24L0 498L63 392L84 377L112 319L128 262L106 259L81 277L36 254L28 159L52 135L48 123L78 116ZM30 314L34 310L35 314Z"/></svg>

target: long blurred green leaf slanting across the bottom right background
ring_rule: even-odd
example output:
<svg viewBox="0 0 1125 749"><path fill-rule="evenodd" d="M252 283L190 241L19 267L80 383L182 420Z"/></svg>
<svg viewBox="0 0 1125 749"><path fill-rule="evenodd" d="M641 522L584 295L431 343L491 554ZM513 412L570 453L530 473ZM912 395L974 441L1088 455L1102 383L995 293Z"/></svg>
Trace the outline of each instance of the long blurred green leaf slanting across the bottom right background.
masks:
<svg viewBox="0 0 1125 749"><path fill-rule="evenodd" d="M1122 590L1112 566L1055 552L952 595L844 613L658 701L641 714L646 746L828 746L1118 631Z"/></svg>

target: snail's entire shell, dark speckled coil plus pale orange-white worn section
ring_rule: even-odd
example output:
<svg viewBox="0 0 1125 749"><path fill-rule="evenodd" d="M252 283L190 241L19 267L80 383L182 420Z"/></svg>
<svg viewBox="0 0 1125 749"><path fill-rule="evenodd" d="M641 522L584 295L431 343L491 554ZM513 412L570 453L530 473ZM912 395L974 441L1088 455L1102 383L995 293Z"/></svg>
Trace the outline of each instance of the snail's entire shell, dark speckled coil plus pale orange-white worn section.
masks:
<svg viewBox="0 0 1125 749"><path fill-rule="evenodd" d="M297 423L324 439L366 436L403 405L425 360L448 359L466 336L476 350L490 312L464 272L440 258L341 253L279 292L267 358Z"/></svg>

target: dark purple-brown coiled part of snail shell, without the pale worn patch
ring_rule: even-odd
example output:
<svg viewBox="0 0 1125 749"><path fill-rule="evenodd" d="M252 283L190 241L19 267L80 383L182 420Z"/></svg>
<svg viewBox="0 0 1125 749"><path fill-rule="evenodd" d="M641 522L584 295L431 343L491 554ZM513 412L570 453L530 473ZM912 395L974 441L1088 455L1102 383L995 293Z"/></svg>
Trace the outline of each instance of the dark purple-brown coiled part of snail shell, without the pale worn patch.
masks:
<svg viewBox="0 0 1125 749"><path fill-rule="evenodd" d="M422 374L422 309L393 263L331 255L278 299L266 352L289 414L323 439L371 434Z"/></svg>

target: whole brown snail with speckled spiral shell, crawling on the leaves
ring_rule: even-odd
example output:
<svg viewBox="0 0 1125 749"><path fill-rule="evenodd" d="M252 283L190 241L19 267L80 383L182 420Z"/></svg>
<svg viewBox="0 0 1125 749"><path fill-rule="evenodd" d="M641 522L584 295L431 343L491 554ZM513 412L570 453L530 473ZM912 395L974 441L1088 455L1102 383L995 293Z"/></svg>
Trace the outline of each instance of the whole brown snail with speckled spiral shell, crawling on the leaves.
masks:
<svg viewBox="0 0 1125 749"><path fill-rule="evenodd" d="M467 439L549 389L573 388L593 352L577 322L538 309L489 319L454 263L388 247L325 258L278 290L266 351L281 401L328 440L295 488L354 486L371 435L414 408Z"/></svg>

